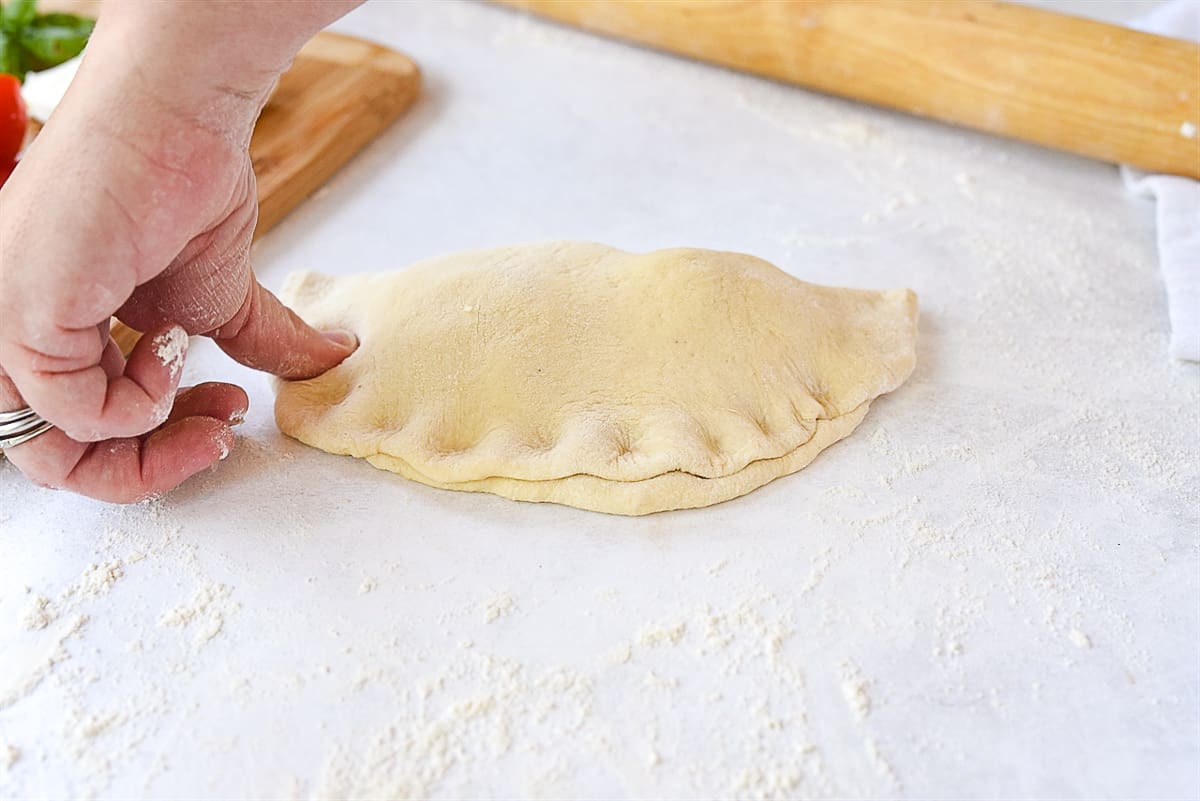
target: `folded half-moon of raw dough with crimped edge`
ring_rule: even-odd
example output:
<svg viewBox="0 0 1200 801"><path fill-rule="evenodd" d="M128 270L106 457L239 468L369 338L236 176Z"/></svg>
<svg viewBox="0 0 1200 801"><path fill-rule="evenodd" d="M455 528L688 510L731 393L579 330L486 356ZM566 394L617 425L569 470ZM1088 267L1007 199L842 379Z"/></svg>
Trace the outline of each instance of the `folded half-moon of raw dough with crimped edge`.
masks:
<svg viewBox="0 0 1200 801"><path fill-rule="evenodd" d="M360 341L278 385L283 433L433 487L619 514L799 470L904 383L917 337L910 290L691 248L527 245L293 273L282 296Z"/></svg>

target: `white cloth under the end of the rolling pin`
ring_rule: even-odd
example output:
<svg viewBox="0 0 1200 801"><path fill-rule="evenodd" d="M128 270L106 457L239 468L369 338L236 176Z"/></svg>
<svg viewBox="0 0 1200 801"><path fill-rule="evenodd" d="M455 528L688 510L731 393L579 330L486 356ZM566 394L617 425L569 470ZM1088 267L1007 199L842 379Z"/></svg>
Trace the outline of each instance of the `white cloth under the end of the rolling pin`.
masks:
<svg viewBox="0 0 1200 801"><path fill-rule="evenodd" d="M1200 0L1174 0L1133 23L1130 28L1200 41ZM1200 104L1200 98L1198 98ZM1200 114L1198 114L1200 116ZM1180 124L1180 135L1196 141L1200 158L1200 119ZM1200 361L1200 181L1177 175L1148 175L1122 167L1126 186L1158 200L1158 259L1171 317L1172 359Z"/></svg>

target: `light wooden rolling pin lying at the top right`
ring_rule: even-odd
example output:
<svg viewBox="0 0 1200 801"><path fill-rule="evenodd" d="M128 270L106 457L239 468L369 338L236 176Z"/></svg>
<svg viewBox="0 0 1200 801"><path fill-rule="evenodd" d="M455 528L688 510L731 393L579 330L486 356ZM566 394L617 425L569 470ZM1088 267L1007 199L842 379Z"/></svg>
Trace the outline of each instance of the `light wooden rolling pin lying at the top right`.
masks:
<svg viewBox="0 0 1200 801"><path fill-rule="evenodd" d="M1200 46L985 0L497 0L586 30L1200 177Z"/></svg>

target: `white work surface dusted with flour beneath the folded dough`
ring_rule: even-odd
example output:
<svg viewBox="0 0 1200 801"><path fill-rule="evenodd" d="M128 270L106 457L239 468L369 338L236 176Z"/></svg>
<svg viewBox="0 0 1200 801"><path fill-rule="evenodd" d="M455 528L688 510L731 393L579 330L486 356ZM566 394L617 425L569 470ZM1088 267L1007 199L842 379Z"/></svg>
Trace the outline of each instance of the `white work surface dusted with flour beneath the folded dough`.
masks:
<svg viewBox="0 0 1200 801"><path fill-rule="evenodd" d="M1114 168L478 5L338 28L426 95L269 285L737 249L916 289L917 371L802 472L632 519L307 448L197 343L252 399L217 470L122 508L0 463L0 797L1200 794L1200 371Z"/></svg>

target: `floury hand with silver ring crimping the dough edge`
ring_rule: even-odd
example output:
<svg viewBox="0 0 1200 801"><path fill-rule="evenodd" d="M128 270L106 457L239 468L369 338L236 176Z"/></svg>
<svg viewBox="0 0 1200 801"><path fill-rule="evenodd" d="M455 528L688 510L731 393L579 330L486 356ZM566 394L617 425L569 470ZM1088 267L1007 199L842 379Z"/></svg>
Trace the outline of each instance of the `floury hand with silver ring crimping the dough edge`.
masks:
<svg viewBox="0 0 1200 801"><path fill-rule="evenodd" d="M35 482L102 500L161 494L229 452L246 395L204 384L176 396L186 335L288 379L355 347L284 308L248 260L250 134L287 61L328 19L280 34L271 4L251 4L274 38L252 64L205 70L197 25L212 42L232 34L194 13L175 26L169 8L192 5L102 17L68 96L0 189L0 411L28 405L56 427L6 456ZM306 7L317 6L336 16L347 4ZM156 44L139 49L151 32ZM113 314L145 332L127 360L108 333Z"/></svg>

